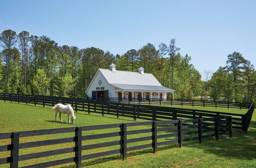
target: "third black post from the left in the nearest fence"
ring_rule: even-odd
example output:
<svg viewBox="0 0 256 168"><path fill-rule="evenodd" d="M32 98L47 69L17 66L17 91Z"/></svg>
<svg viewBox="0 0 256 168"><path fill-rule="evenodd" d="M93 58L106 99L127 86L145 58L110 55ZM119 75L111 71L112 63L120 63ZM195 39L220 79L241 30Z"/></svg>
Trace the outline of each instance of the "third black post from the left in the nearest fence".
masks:
<svg viewBox="0 0 256 168"><path fill-rule="evenodd" d="M127 158L127 124L121 125L121 155L122 159Z"/></svg>

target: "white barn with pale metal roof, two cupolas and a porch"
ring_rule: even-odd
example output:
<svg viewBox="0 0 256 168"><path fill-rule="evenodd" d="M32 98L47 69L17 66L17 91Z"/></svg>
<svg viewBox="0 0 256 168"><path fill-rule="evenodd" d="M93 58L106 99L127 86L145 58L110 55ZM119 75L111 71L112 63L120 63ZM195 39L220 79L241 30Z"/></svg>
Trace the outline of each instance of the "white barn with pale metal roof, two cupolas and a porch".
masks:
<svg viewBox="0 0 256 168"><path fill-rule="evenodd" d="M174 90L162 86L152 73L144 73L142 67L139 72L118 71L115 64L111 64L109 69L98 69L86 90L92 99L129 98L131 101L166 99L169 92L174 95Z"/></svg>

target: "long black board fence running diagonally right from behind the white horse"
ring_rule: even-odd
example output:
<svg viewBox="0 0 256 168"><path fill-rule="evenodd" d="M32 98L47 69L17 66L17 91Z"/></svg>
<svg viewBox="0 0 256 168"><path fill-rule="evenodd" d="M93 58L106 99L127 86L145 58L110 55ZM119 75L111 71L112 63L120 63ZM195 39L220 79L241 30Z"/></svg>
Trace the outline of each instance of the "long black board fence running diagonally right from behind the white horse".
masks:
<svg viewBox="0 0 256 168"><path fill-rule="evenodd" d="M136 120L169 120L169 119L196 119L209 118L219 116L232 116L234 129L241 129L247 132L252 119L254 104L248 107L245 114L215 112L207 110L183 109L176 107L152 106L142 104L127 104L119 102L106 102L100 100L82 99L82 98L67 98L42 95L19 95L11 93L0 93L0 99L10 102L23 102L54 106L57 103L71 104L75 111L84 111L90 113L101 113L104 115L112 115L119 118L129 117Z"/></svg>

